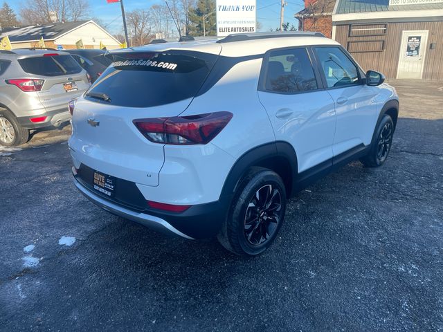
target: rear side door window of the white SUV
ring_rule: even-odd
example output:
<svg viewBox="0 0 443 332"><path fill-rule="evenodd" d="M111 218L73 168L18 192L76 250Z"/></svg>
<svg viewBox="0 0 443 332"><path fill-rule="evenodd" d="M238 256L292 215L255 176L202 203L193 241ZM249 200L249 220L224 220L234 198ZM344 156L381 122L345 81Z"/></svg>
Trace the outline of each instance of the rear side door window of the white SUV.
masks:
<svg viewBox="0 0 443 332"><path fill-rule="evenodd" d="M265 77L266 91L300 93L318 89L306 48L272 51Z"/></svg>

